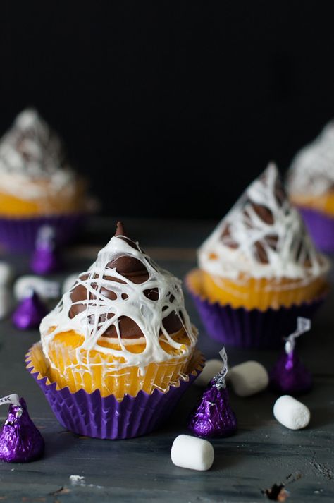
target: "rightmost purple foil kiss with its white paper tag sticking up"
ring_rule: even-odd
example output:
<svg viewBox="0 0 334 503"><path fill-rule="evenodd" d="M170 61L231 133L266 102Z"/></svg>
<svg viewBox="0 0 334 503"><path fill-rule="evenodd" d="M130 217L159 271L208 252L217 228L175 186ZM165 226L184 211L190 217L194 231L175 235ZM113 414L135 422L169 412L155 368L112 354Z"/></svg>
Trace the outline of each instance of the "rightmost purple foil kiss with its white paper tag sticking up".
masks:
<svg viewBox="0 0 334 503"><path fill-rule="evenodd" d="M307 370L295 351L295 339L311 328L307 318L297 318L297 330L287 337L284 352L269 373L270 387L284 394L305 393L311 389L311 372Z"/></svg>

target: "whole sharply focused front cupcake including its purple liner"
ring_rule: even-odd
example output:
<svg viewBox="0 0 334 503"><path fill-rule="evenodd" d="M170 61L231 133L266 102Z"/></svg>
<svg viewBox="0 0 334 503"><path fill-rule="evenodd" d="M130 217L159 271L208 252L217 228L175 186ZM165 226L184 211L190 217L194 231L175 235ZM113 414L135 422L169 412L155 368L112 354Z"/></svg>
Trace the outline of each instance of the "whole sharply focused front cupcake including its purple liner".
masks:
<svg viewBox="0 0 334 503"><path fill-rule="evenodd" d="M200 370L180 280L120 223L40 331L30 371L60 422L84 435L126 438L156 428Z"/></svg>

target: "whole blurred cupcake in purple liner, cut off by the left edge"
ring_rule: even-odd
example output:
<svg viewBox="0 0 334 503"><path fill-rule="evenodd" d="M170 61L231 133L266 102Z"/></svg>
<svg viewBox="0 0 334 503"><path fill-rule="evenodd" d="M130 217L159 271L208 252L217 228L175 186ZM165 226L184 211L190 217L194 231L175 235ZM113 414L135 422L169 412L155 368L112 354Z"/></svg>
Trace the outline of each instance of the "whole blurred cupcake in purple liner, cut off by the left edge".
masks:
<svg viewBox="0 0 334 503"><path fill-rule="evenodd" d="M55 227L58 242L68 241L87 211L85 190L37 111L19 114L0 140L0 243L32 249L42 224Z"/></svg>

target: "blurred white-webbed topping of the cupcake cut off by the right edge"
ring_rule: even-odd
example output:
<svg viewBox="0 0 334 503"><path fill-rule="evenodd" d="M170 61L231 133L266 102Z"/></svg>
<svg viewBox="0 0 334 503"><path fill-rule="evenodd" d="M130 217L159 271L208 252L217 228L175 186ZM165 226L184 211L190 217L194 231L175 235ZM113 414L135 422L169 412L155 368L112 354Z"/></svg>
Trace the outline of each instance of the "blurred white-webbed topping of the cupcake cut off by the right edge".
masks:
<svg viewBox="0 0 334 503"><path fill-rule="evenodd" d="M288 172L292 195L323 195L334 191L334 121L312 143L297 152Z"/></svg>

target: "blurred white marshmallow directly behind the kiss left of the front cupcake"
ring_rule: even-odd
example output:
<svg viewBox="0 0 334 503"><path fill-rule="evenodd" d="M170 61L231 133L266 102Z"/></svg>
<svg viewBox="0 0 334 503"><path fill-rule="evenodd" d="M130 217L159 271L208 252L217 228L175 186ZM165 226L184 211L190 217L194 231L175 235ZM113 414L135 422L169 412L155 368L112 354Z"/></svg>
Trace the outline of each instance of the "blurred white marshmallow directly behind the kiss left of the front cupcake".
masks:
<svg viewBox="0 0 334 503"><path fill-rule="evenodd" d="M18 301L29 296L32 290L43 300L57 298L60 295L57 281L49 281L38 276L21 276L14 284L14 296Z"/></svg>

